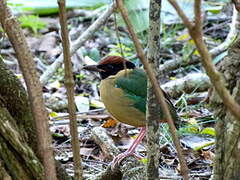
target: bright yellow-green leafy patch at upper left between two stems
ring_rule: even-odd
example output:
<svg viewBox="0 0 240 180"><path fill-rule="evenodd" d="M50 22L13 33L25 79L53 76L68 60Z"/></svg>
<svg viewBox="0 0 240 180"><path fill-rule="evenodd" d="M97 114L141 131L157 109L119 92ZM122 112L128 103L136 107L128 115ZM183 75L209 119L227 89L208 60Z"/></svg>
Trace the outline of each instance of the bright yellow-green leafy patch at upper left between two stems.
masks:
<svg viewBox="0 0 240 180"><path fill-rule="evenodd" d="M35 35L38 30L44 29L46 23L41 21L38 16L35 15L22 15L18 18L21 23L21 27L29 28Z"/></svg>

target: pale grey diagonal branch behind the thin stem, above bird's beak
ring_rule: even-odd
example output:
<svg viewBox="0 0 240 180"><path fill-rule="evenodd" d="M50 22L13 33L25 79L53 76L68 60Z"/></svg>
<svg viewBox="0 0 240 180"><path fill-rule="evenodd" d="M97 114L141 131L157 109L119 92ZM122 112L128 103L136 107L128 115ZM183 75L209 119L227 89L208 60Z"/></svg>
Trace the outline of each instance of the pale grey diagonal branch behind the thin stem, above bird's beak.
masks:
<svg viewBox="0 0 240 180"><path fill-rule="evenodd" d="M89 28L73 43L70 48L71 56L76 53L76 51L105 23L108 17L113 13L115 9L115 4L110 5L110 7L93 23ZM55 61L52 63L47 70L41 75L40 81L42 84L46 84L48 79L52 74L57 70L57 68L62 64L63 54L61 54Z"/></svg>

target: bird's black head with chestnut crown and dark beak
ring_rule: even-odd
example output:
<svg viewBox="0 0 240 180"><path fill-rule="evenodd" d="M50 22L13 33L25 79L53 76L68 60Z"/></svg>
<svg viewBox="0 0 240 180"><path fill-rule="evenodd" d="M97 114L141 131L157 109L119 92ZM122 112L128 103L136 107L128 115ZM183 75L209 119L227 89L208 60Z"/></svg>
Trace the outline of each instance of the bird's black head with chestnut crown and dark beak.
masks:
<svg viewBox="0 0 240 180"><path fill-rule="evenodd" d="M115 75L123 70L124 62L127 69L135 68L135 65L132 62L120 56L108 56L103 58L97 65L85 66L83 69L99 72L101 79L106 79L108 76Z"/></svg>

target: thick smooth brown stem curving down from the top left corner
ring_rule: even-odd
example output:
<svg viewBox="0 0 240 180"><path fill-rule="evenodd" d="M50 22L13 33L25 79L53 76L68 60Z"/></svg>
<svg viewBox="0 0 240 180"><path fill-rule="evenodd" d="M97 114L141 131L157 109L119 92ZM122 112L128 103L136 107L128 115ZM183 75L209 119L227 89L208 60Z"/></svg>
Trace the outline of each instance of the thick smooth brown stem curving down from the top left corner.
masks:
<svg viewBox="0 0 240 180"><path fill-rule="evenodd" d="M48 129L48 114L43 101L42 86L37 75L33 55L16 18L7 7L6 1L0 1L0 21L4 31L16 52L31 103L31 110L37 134L37 154L41 159L46 180L56 179L52 139Z"/></svg>

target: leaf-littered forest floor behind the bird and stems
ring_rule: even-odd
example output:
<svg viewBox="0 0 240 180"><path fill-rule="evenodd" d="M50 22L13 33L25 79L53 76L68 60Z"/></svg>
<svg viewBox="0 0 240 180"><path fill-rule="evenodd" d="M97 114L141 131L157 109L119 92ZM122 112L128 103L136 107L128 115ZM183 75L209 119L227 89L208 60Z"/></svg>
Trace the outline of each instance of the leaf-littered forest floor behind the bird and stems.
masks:
<svg viewBox="0 0 240 180"><path fill-rule="evenodd" d="M86 10L86 12L91 11ZM69 12L71 41L78 38L96 19L96 16L89 16L87 15L88 13L83 13L82 16L75 13L75 11ZM221 43L228 34L229 29L226 22L230 23L231 19L224 15L224 13L221 15L221 20L216 18L206 20L204 23L205 38L209 48ZM38 29L37 32L34 33L31 27L23 30L34 54L39 75L41 75L61 54L62 50L57 15L40 17L39 21L44 22L46 25ZM139 65L128 33L122 27L118 30L126 57ZM185 35L186 29L182 24L172 23L163 27L162 64L178 58L186 61L198 58L194 45L190 42L190 38ZM145 47L147 42L146 36L146 32L142 32L139 35ZM14 50L7 38L1 39L0 49L4 62L23 82ZM98 75L81 70L84 64L96 63L101 57L106 55L120 55L113 18L110 18L72 57L75 101L78 110L78 133L81 145L80 153L86 178L91 178L101 173L109 166L113 158L111 152L104 150L104 147L109 146L104 143L109 142L97 140L98 137L96 136L98 135L96 131L99 129L96 128L103 129L106 136L112 139L114 146L119 151L125 151L139 133L139 128L120 124L113 120L111 115L104 109L104 105L100 100L98 93L100 79ZM204 73L199 62L185 67L179 66L171 71L164 72L164 78L162 78L161 82L164 84L184 78L192 73ZM213 127L215 118L208 104L207 89L203 92L198 92L197 90L193 90L190 93L181 92L178 97L173 99L182 120L182 126L178 129L178 134L193 179L209 179L214 164L215 131ZM50 114L50 130L53 136L56 159L60 160L66 167L67 172L73 175L73 158L63 66L58 68L54 76L44 85L43 92ZM138 148L138 153L142 156L146 156L145 145L146 139ZM161 125L159 152L161 153L159 162L162 175L178 177L180 170L179 161L166 124ZM144 159L141 162L143 164L146 163Z"/></svg>

